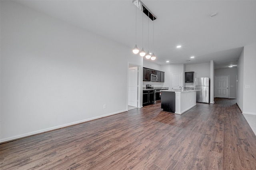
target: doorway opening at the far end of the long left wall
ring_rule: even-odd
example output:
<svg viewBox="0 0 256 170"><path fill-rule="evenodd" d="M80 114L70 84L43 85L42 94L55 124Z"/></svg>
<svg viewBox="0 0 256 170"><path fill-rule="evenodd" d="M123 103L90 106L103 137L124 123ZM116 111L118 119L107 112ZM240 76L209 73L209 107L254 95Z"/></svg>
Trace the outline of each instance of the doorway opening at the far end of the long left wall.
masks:
<svg viewBox="0 0 256 170"><path fill-rule="evenodd" d="M128 68L128 106L127 110L139 107L139 66L129 64Z"/></svg>

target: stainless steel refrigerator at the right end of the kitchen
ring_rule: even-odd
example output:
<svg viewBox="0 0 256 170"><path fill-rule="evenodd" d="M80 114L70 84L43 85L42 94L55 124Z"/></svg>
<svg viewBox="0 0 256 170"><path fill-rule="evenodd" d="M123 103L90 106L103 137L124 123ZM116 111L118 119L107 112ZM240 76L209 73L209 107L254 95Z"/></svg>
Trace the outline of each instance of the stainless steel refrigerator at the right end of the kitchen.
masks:
<svg viewBox="0 0 256 170"><path fill-rule="evenodd" d="M210 103L210 78L195 78L196 102Z"/></svg>

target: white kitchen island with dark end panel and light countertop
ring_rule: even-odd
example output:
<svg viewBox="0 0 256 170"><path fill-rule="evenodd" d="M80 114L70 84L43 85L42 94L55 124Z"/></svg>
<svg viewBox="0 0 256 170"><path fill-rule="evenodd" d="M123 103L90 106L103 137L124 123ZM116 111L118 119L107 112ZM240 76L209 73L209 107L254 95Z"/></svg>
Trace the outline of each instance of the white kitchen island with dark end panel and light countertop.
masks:
<svg viewBox="0 0 256 170"><path fill-rule="evenodd" d="M181 115L196 105L196 91L200 90L162 90L161 108Z"/></svg>

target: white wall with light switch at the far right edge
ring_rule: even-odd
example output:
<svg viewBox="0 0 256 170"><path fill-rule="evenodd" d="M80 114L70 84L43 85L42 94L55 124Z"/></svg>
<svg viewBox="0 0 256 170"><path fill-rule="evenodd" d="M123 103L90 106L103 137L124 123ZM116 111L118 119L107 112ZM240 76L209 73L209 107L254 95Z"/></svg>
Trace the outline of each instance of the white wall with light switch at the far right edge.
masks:
<svg viewBox="0 0 256 170"><path fill-rule="evenodd" d="M250 86L250 88L246 88ZM244 46L244 110L256 115L256 43Z"/></svg>

